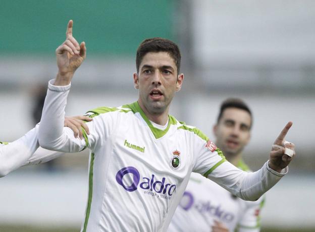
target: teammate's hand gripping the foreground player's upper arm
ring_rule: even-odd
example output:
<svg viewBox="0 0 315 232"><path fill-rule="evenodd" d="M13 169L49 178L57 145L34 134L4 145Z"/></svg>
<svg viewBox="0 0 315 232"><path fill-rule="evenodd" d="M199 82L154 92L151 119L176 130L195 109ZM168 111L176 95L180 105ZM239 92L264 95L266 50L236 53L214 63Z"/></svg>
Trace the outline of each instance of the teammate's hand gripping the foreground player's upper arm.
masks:
<svg viewBox="0 0 315 232"><path fill-rule="evenodd" d="M83 139L82 127L85 130L86 134L90 134L88 126L83 120L87 122L92 121L92 119L87 116L66 117L65 127L69 127L73 131L74 137L80 137L80 139Z"/></svg>

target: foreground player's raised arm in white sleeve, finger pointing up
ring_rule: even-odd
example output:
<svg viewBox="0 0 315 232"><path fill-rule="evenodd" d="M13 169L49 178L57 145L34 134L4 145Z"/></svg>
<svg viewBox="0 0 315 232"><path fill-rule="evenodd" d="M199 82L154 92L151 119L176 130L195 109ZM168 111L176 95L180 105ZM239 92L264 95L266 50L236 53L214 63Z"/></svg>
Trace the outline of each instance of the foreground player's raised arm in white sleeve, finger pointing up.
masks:
<svg viewBox="0 0 315 232"><path fill-rule="evenodd" d="M79 44L72 36L72 26L70 20L66 40L56 49L58 74L48 84L38 135L41 147L62 152L78 152L89 143L87 136L85 140L75 138L73 132L63 126L71 79L86 55L85 43Z"/></svg>

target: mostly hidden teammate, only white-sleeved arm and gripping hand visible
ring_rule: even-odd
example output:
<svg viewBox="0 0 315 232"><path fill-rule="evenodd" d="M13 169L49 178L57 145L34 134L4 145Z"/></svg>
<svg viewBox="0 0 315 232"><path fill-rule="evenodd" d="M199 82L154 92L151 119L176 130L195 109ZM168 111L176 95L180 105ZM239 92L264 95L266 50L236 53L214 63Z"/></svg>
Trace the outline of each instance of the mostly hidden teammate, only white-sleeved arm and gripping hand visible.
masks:
<svg viewBox="0 0 315 232"><path fill-rule="evenodd" d="M83 120L91 121L91 118L86 116L67 117L64 124L71 128L75 137L82 137L81 127L88 130ZM39 147L38 128L39 125L36 125L12 143L0 142L0 178L21 166L47 162L63 154L63 152L49 151Z"/></svg>

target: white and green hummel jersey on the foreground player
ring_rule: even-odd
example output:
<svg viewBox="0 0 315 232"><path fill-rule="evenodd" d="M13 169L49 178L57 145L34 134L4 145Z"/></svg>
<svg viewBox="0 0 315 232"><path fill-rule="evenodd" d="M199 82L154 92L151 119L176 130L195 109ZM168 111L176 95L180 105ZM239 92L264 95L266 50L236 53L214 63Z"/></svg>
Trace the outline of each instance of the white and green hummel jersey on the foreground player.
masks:
<svg viewBox="0 0 315 232"><path fill-rule="evenodd" d="M137 102L88 111L90 135L80 140L63 127L69 89L49 83L39 143L60 152L90 149L83 232L166 231L192 171L251 200L284 175L267 164L254 175L241 171L198 129L171 115L165 130L153 127Z"/></svg>

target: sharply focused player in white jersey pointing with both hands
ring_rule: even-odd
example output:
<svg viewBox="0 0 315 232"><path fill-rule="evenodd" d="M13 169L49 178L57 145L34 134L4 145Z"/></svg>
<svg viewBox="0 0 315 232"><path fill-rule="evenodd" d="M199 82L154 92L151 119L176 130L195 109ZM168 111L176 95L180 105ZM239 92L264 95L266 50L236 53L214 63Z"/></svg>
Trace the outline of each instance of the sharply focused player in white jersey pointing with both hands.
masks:
<svg viewBox="0 0 315 232"><path fill-rule="evenodd" d="M39 126L39 144L60 152L90 149L89 192L81 231L165 231L192 171L245 200L257 200L288 171L285 148L253 173L227 162L214 143L195 127L169 115L181 89L180 51L167 39L144 40L136 54L134 87L138 101L87 112L90 135L75 138L63 127L74 72L86 56L84 42L72 35L56 49L58 74L49 81ZM87 77L88 78L88 77ZM284 146L289 122L275 144ZM286 144L294 149L294 144Z"/></svg>

